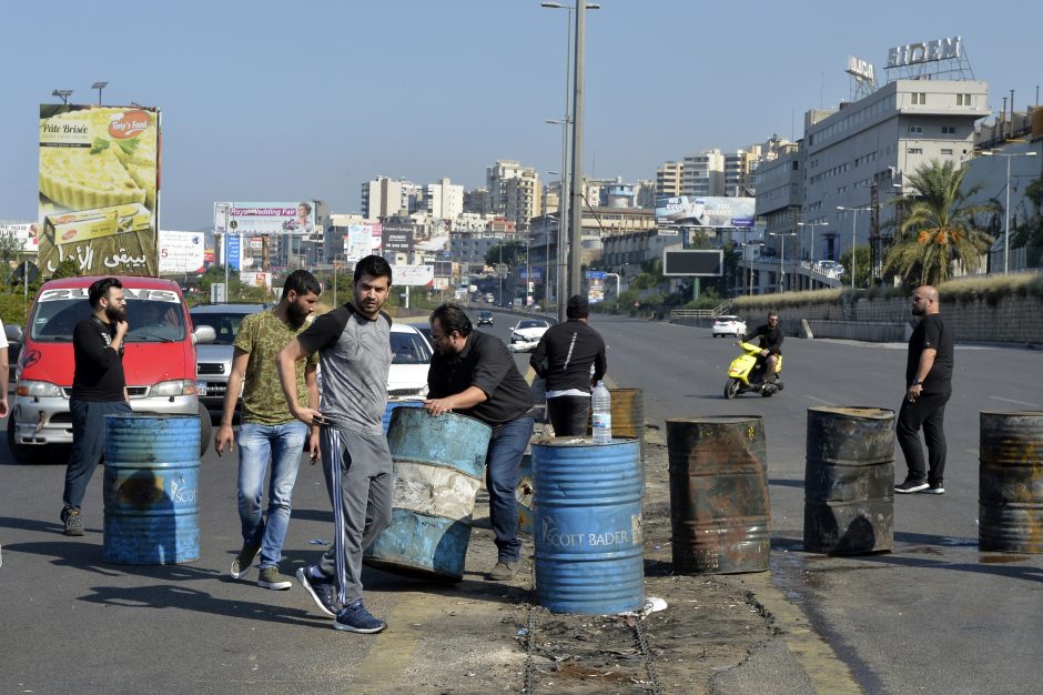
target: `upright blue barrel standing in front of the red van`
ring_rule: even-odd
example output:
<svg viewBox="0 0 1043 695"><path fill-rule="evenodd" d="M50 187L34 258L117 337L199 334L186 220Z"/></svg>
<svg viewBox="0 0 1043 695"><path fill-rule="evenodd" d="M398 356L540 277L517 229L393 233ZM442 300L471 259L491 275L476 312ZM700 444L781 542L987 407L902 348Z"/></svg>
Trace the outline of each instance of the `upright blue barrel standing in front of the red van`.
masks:
<svg viewBox="0 0 1043 695"><path fill-rule="evenodd" d="M105 415L105 562L199 560L199 472L198 415Z"/></svg>

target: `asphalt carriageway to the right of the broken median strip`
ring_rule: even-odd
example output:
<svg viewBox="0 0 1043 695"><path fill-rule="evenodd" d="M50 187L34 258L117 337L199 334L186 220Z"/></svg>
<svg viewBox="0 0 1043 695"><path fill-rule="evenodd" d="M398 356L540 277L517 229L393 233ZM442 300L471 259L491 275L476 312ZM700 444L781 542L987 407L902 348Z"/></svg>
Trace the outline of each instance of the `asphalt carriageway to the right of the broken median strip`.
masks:
<svg viewBox="0 0 1043 695"><path fill-rule="evenodd" d="M959 344L945 415L946 494L895 495L893 552L838 558L802 551L807 409L898 410L904 344L787 339L786 390L728 401L727 369L738 354L732 340L625 319L595 316L593 325L609 346L609 376L644 389L648 422L763 416L772 581L865 692L1039 692L1043 555L979 552L978 456L981 411L1043 411L1043 353ZM904 474L897 450L897 482ZM771 684L777 664L759 667L763 677L752 683Z"/></svg>

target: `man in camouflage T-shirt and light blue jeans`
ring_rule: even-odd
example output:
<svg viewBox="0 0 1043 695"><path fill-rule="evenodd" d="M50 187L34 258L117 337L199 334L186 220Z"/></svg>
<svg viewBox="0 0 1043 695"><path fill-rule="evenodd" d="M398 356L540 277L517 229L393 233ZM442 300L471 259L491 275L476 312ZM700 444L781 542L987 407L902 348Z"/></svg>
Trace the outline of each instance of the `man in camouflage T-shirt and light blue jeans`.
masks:
<svg viewBox="0 0 1043 695"><path fill-rule="evenodd" d="M286 590L293 583L279 573L283 538L290 525L290 497L297 480L301 451L308 425L290 412L279 383L279 352L305 328L322 286L306 270L297 270L283 283L283 294L272 310L243 319L235 335L232 372L224 393L224 413L214 435L214 450L220 456L225 446L235 449L232 417L240 389L243 410L239 429L239 518L243 547L232 562L232 577L246 572L257 551L261 552L257 586ZM315 365L318 360L294 363L294 377L301 405L318 407ZM308 437L312 460L318 455L318 427ZM267 517L261 514L269 457L272 480L269 486Z"/></svg>

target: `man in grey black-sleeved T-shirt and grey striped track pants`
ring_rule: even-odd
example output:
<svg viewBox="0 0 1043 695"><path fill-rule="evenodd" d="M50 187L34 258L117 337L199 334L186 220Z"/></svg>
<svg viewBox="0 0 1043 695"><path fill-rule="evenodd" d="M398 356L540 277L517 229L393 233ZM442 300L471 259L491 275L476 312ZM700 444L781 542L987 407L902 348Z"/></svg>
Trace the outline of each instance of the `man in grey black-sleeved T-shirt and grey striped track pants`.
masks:
<svg viewBox="0 0 1043 695"><path fill-rule="evenodd" d="M297 581L333 626L378 633L387 623L362 603L362 554L391 522L394 473L382 419L392 363L387 301L392 270L378 255L355 264L351 302L316 319L279 354L279 377L294 416L321 425L320 451L333 503L334 541ZM323 375L320 412L297 402L294 363L318 352Z"/></svg>

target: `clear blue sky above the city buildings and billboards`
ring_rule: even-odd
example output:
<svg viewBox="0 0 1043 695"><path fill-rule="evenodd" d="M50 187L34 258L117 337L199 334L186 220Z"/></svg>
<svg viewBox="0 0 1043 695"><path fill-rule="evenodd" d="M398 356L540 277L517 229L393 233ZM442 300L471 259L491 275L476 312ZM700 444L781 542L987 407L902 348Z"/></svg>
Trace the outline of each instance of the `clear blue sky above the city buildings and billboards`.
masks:
<svg viewBox="0 0 1043 695"><path fill-rule="evenodd" d="M848 98L849 53L883 81L889 48L962 36L994 111L1043 82L1037 2L600 3L584 149L598 177L799 137L806 110ZM379 174L475 188L497 159L553 179L566 18L539 0L3 0L0 220L36 218L38 104L54 89L94 103L98 80L105 103L163 110L163 229L207 228L215 200L357 212Z"/></svg>

